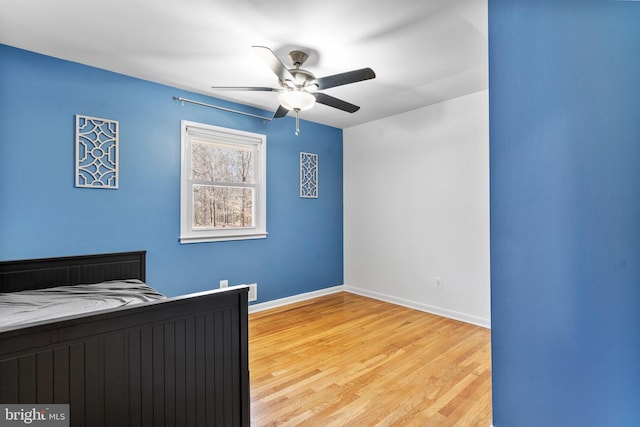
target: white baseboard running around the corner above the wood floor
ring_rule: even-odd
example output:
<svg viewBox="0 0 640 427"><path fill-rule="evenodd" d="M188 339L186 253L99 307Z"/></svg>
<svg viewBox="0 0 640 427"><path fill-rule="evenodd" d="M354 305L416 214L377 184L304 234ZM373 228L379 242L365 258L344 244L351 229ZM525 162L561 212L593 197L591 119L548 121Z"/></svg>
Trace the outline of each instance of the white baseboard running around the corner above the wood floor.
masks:
<svg viewBox="0 0 640 427"><path fill-rule="evenodd" d="M491 320L478 316L473 316L466 313L460 313L453 310L448 310L441 307L435 307L428 304L422 304L415 301L409 301L403 298L397 298L391 295L382 294L379 292L368 291L365 289L356 288L348 285L333 286L331 288L320 289L318 291L306 292L303 294L293 295L286 298L280 298L273 301L262 302L259 304L253 304L249 306L249 314L257 313L259 311L269 310L272 308L282 307L284 305L293 304L296 302L306 301L308 299L321 297L324 295L335 294L337 292L351 292L352 294L362 295L370 297L380 301L388 302L391 304L401 305L403 307L412 308L414 310L424 311L426 313L435 314L438 316L448 317L450 319L459 320L461 322L470 323L472 325L481 326L483 328L491 328Z"/></svg>

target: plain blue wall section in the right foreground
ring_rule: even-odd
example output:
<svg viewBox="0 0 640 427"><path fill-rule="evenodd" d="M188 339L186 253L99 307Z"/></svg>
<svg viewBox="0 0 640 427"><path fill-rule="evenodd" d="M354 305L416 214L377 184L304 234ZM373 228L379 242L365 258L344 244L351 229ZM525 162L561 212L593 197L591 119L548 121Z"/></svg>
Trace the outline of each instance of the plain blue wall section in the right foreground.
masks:
<svg viewBox="0 0 640 427"><path fill-rule="evenodd" d="M640 422L640 3L489 0L494 425Z"/></svg>

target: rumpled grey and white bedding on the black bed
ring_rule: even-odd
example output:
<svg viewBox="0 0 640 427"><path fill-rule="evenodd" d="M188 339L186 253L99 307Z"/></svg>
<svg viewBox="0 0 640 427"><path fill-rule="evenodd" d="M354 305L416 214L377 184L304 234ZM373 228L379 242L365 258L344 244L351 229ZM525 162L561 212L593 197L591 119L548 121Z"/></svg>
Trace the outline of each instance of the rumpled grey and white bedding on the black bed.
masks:
<svg viewBox="0 0 640 427"><path fill-rule="evenodd" d="M0 293L0 328L164 298L136 279Z"/></svg>

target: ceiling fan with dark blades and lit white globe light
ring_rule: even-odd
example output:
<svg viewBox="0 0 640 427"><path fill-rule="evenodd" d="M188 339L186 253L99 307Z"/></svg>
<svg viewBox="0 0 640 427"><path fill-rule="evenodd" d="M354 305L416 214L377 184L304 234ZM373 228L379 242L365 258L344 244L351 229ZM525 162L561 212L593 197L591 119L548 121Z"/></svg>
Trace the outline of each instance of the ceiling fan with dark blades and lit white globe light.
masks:
<svg viewBox="0 0 640 427"><path fill-rule="evenodd" d="M307 53L301 50L289 52L293 68L287 68L268 47L252 46L252 48L278 77L280 87L213 86L212 88L218 90L279 92L280 106L274 113L273 118L284 117L289 111L294 111L296 113L296 135L300 133L298 114L300 111L311 108L316 102L348 113L355 113L360 109L357 105L319 91L376 77L376 73L371 68L362 68L316 78L310 71L300 68L308 58Z"/></svg>

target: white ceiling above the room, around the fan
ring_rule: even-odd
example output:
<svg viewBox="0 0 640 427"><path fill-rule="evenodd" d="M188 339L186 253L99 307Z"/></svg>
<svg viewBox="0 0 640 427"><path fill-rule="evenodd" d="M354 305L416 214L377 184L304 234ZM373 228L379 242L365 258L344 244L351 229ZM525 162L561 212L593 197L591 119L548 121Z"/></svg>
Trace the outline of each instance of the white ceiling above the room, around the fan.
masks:
<svg viewBox="0 0 640 427"><path fill-rule="evenodd" d="M301 118L339 128L487 88L487 0L0 0L0 43L275 111L277 86L252 45L305 50L326 75L374 80L327 89L361 109ZM291 113L290 113L291 114Z"/></svg>

